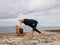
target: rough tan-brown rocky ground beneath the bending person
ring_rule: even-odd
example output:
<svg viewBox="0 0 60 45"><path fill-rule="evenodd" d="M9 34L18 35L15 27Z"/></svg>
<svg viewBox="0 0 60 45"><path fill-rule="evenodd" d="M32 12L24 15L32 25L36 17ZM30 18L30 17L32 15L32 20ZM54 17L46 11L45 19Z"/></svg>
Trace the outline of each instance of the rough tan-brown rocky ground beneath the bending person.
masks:
<svg viewBox="0 0 60 45"><path fill-rule="evenodd" d="M30 32L25 36L0 33L0 45L60 45L60 33L45 31L45 35L41 35L35 32L33 38Z"/></svg>

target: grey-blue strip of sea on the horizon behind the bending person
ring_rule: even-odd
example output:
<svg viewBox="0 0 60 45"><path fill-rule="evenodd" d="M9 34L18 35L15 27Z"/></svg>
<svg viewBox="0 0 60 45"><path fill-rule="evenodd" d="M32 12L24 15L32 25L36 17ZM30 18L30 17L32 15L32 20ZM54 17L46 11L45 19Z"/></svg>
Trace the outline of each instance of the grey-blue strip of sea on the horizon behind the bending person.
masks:
<svg viewBox="0 0 60 45"><path fill-rule="evenodd" d="M28 32L28 31L31 31L32 28L31 27L28 27L28 26L23 26L22 27L24 31ZM56 30L56 29L60 29L60 27L39 27L37 26L37 29L42 31L42 30ZM12 27L0 27L0 33L9 33L9 32L15 32L16 29L15 29L15 26L12 26Z"/></svg>

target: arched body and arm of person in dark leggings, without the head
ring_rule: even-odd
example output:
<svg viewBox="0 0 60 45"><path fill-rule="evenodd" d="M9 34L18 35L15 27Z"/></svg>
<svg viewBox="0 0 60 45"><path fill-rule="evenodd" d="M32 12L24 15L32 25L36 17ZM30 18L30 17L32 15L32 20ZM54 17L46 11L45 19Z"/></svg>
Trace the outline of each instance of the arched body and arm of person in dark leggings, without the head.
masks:
<svg viewBox="0 0 60 45"><path fill-rule="evenodd" d="M38 32L39 34L41 33L37 28L37 24L38 24L38 21L34 20L34 19L19 19L18 22L21 24L21 23L24 23L25 25L28 25L30 27L32 27L32 36L34 34L34 31ZM18 32L18 35L20 35L19 33L19 28L20 28L20 24L17 24L16 25L16 32ZM20 28L21 29L21 28Z"/></svg>

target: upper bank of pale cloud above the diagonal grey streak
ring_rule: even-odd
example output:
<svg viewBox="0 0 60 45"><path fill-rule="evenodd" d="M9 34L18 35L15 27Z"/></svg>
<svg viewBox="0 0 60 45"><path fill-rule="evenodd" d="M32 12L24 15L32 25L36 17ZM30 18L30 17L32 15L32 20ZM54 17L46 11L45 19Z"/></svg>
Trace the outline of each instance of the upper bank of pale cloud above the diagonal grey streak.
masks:
<svg viewBox="0 0 60 45"><path fill-rule="evenodd" d="M16 18L19 13L29 13L37 8L41 10L58 4L59 0L0 0L0 19Z"/></svg>

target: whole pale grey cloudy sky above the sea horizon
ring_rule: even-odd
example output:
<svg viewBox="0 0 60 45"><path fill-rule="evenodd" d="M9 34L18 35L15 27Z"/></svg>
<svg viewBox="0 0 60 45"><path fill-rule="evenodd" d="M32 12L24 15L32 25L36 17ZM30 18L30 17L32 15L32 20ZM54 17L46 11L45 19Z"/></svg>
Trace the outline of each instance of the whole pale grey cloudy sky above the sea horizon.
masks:
<svg viewBox="0 0 60 45"><path fill-rule="evenodd" d="M60 26L60 0L0 0L0 27L32 18L40 26Z"/></svg>

